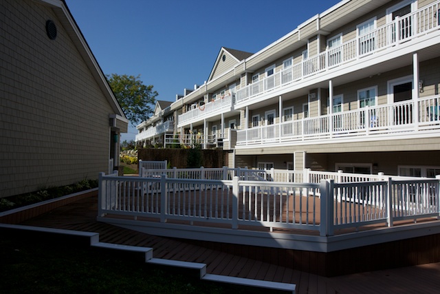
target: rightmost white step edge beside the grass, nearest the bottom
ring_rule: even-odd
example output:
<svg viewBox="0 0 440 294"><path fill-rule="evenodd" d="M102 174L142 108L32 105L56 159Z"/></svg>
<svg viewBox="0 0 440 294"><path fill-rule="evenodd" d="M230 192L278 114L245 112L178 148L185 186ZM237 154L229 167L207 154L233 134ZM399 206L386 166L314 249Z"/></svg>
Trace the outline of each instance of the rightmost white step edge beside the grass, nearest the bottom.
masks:
<svg viewBox="0 0 440 294"><path fill-rule="evenodd" d="M209 273L206 274L204 277L202 277L202 280L211 281L211 282L221 282L227 284L236 284L240 286L250 286L256 288L267 288L271 290L286 291L292 294L295 293L295 289L296 289L295 284L252 280L252 279L246 279L244 277L229 277L227 275L211 275Z"/></svg>

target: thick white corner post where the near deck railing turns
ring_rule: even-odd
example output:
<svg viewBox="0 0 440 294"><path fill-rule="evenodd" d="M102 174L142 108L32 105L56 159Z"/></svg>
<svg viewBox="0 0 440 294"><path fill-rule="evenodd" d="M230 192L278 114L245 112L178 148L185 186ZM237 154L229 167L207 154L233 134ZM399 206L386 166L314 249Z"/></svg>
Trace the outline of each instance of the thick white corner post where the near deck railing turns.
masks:
<svg viewBox="0 0 440 294"><path fill-rule="evenodd" d="M333 235L333 183L334 180L320 181L320 227L322 237Z"/></svg>

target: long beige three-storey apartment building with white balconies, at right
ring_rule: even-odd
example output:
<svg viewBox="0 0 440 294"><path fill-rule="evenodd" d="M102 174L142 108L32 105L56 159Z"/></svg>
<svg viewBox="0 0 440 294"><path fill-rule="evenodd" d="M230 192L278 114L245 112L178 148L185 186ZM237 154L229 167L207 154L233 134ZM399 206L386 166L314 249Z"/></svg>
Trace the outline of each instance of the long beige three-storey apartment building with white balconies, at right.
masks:
<svg viewBox="0 0 440 294"><path fill-rule="evenodd" d="M221 48L173 136L234 167L440 174L440 1L344 0L250 54Z"/></svg>

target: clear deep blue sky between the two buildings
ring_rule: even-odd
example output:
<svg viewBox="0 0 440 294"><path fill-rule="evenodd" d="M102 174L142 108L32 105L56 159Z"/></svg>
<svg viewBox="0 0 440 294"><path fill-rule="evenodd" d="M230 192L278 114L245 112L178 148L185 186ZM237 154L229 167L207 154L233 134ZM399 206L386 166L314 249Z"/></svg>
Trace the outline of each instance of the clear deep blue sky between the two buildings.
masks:
<svg viewBox="0 0 440 294"><path fill-rule="evenodd" d="M338 2L66 0L104 74L140 74L165 101L203 84L221 47L258 52Z"/></svg>

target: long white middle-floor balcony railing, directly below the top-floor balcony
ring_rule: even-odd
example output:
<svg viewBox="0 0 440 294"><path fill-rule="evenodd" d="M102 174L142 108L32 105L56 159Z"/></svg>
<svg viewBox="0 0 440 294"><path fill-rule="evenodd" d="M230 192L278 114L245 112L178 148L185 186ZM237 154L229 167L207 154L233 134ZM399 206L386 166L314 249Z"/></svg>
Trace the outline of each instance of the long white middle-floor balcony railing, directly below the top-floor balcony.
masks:
<svg viewBox="0 0 440 294"><path fill-rule="evenodd" d="M440 96L237 131L237 146L332 140L440 129Z"/></svg>

